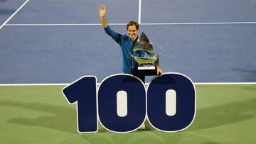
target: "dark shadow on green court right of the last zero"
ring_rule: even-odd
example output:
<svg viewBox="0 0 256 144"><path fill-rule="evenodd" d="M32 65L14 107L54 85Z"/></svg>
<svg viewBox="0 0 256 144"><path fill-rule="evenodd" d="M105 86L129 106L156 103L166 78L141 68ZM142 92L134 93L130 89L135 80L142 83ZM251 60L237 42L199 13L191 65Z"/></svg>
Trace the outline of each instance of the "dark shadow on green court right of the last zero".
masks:
<svg viewBox="0 0 256 144"><path fill-rule="evenodd" d="M256 99L250 99L221 104L206 109L198 109L195 120L186 131L214 128L253 118L255 115L247 114L247 112L255 111L255 104Z"/></svg>

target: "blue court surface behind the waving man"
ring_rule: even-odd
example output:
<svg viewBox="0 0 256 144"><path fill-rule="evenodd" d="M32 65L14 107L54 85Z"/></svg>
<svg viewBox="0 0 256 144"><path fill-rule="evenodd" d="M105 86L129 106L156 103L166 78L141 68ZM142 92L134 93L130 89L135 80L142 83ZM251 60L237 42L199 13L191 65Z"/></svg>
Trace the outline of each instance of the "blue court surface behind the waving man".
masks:
<svg viewBox="0 0 256 144"><path fill-rule="evenodd" d="M122 72L119 45L100 25L100 4L118 33L139 21L154 49L163 48L164 72L193 82L256 82L256 1L140 2L1 0L0 83L69 83L82 75L101 82Z"/></svg>

